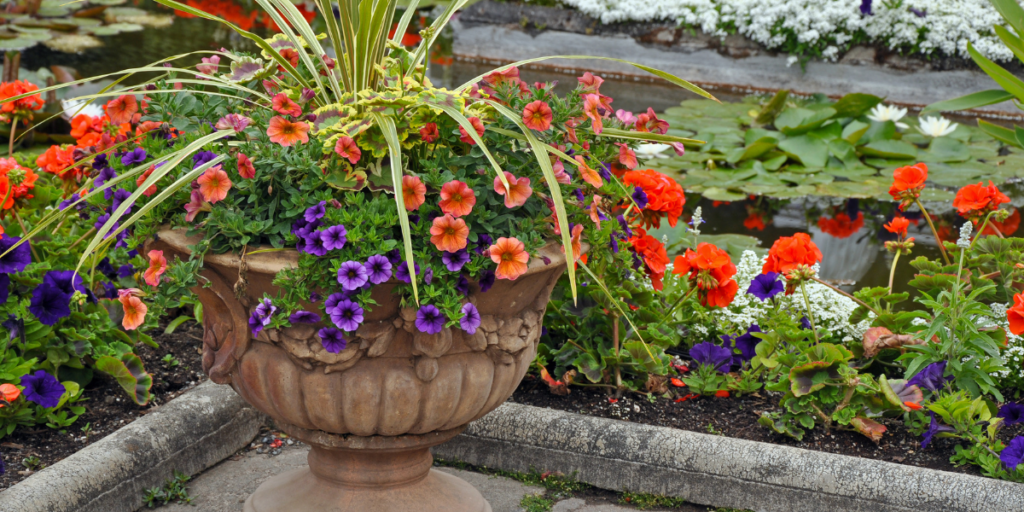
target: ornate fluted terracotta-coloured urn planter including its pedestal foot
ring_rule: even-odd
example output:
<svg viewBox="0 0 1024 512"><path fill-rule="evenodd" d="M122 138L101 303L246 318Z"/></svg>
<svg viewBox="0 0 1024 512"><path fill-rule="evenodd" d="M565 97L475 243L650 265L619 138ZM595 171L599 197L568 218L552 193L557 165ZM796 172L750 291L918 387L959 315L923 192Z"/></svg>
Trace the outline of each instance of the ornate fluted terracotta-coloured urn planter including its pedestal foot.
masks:
<svg viewBox="0 0 1024 512"><path fill-rule="evenodd" d="M187 259L198 238L163 230L152 248ZM481 325L472 336L419 332L416 309L401 308L388 282L347 347L327 352L317 327L264 330L253 339L251 309L276 295L278 271L292 250L207 255L196 289L203 303L203 368L229 384L276 426L311 446L309 466L275 476L246 501L247 512L489 511L465 481L432 470L430 447L500 406L537 353L551 291L565 270L557 244L540 251L516 281L486 293L471 285ZM334 288L326 284L325 288ZM309 309L313 309L310 307Z"/></svg>

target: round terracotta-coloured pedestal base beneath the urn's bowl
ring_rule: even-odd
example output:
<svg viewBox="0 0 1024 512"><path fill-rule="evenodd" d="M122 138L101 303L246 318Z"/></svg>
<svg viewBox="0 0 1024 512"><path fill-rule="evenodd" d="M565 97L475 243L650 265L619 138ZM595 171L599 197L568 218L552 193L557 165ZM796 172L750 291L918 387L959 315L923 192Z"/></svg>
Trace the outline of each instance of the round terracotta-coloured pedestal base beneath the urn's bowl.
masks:
<svg viewBox="0 0 1024 512"><path fill-rule="evenodd" d="M311 446L309 467L263 482L245 512L490 512L472 485L431 469L430 446L465 427L362 437L279 426Z"/></svg>

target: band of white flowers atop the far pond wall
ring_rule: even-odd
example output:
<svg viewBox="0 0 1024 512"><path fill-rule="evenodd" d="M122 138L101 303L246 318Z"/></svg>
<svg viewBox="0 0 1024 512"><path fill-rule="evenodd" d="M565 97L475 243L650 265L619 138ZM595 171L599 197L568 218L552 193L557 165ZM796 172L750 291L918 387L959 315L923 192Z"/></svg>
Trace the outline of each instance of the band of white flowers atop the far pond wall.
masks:
<svg viewBox="0 0 1024 512"><path fill-rule="evenodd" d="M989 58L1013 57L992 32L1002 18L988 0L874 0L869 15L861 14L861 0L561 1L605 24L672 19L715 36L739 32L772 49L814 48L830 60L855 39L963 57L970 42Z"/></svg>

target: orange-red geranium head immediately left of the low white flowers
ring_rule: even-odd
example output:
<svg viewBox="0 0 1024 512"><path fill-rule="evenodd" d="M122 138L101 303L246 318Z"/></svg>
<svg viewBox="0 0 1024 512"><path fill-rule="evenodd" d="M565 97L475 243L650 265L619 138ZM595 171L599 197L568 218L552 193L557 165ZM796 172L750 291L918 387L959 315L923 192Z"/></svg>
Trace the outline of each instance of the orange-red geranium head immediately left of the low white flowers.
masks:
<svg viewBox="0 0 1024 512"><path fill-rule="evenodd" d="M713 244L701 242L697 250L687 249L682 256L676 256L672 273L689 273L691 286L695 285L700 304L706 307L726 307L739 290L736 280L736 265L732 264L729 253Z"/></svg>

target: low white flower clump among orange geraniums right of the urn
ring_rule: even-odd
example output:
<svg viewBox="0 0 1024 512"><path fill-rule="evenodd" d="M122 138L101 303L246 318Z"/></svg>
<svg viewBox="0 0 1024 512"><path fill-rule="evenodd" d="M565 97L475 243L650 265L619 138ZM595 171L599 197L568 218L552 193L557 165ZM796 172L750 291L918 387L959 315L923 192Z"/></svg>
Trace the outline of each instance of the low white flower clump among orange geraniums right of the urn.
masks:
<svg viewBox="0 0 1024 512"><path fill-rule="evenodd" d="M758 318L763 317L770 309L768 302L762 302L761 299L746 293L751 282L761 273L766 259L767 257L762 258L754 251L744 251L740 257L734 278L739 285L739 292L729 307L716 309L713 313L725 331L746 332L752 324L757 323ZM825 327L843 341L861 339L870 327L870 319L856 325L850 324L850 314L857 308L857 303L835 290L812 282L807 284L807 295L817 326ZM790 296L780 294L775 300L781 300L782 310L790 311L791 314L803 316L806 311L804 296L800 292Z"/></svg>

